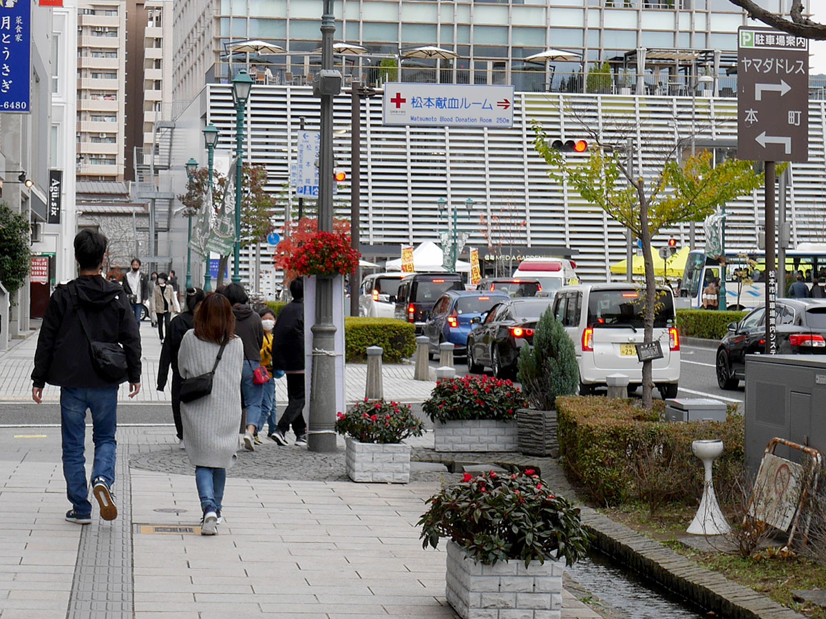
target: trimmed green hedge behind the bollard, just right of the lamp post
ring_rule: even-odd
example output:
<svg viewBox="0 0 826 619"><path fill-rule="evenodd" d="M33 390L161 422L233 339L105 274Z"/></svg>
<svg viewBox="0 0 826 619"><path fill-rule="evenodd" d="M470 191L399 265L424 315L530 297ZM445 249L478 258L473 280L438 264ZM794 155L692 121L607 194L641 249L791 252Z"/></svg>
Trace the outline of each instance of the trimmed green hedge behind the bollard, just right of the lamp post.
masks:
<svg viewBox="0 0 826 619"><path fill-rule="evenodd" d="M382 361L398 363L415 352L415 325L392 318L347 317L344 346L346 361L364 361L368 346L381 346Z"/></svg>

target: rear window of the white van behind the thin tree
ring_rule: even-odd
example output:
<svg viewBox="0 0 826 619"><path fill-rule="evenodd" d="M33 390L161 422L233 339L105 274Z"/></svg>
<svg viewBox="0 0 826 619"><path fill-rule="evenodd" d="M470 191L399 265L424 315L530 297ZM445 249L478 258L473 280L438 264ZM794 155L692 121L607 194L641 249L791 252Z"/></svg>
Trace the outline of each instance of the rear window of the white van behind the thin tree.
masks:
<svg viewBox="0 0 826 619"><path fill-rule="evenodd" d="M612 290L591 291L588 298L588 325L605 326L630 325L643 328L645 311L645 291ZM674 300L666 291L657 296L654 311L654 327L665 328L674 320Z"/></svg>

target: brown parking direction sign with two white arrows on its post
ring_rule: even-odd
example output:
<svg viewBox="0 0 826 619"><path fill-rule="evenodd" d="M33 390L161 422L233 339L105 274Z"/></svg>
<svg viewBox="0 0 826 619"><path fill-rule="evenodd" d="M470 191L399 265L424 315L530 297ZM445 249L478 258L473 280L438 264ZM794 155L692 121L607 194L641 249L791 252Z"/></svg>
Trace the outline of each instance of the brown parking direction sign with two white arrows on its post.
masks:
<svg viewBox="0 0 826 619"><path fill-rule="evenodd" d="M737 156L766 162L766 353L777 353L776 161L809 160L809 40L740 26L737 45Z"/></svg>

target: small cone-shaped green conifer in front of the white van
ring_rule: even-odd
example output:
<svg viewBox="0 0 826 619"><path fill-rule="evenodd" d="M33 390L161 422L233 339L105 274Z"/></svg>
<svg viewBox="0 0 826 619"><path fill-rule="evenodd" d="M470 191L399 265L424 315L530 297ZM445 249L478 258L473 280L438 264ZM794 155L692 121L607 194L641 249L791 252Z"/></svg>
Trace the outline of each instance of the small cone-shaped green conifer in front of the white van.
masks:
<svg viewBox="0 0 826 619"><path fill-rule="evenodd" d="M558 396L577 393L577 352L550 307L536 325L534 347L522 348L516 366L525 397L535 409L553 410Z"/></svg>

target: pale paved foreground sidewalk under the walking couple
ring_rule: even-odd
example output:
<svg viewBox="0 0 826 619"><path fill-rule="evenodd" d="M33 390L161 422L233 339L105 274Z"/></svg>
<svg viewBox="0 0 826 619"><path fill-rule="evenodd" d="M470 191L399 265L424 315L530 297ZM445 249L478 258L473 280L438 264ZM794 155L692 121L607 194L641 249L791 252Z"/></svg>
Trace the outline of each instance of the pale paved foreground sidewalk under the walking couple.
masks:
<svg viewBox="0 0 826 619"><path fill-rule="evenodd" d="M103 522L95 508L79 527L63 519L58 428L29 432L0 429L2 619L454 617L444 548L422 549L415 527L436 481L231 476L220 534L202 537L191 472L129 465L178 453L168 429L121 428L120 516ZM597 617L570 594L563 605L566 619Z"/></svg>

